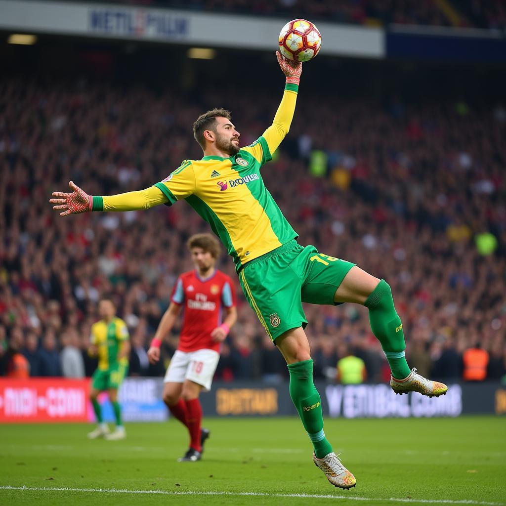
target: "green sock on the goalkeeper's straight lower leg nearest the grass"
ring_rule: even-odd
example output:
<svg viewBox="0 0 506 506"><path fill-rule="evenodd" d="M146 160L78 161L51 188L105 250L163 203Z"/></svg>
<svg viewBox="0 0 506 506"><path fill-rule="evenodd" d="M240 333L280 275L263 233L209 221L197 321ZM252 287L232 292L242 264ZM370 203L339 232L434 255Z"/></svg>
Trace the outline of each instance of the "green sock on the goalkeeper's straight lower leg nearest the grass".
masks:
<svg viewBox="0 0 506 506"><path fill-rule="evenodd" d="M323 432L321 399L313 383L313 360L288 364L290 397L299 412L302 425L313 443L315 454L323 458L332 451Z"/></svg>

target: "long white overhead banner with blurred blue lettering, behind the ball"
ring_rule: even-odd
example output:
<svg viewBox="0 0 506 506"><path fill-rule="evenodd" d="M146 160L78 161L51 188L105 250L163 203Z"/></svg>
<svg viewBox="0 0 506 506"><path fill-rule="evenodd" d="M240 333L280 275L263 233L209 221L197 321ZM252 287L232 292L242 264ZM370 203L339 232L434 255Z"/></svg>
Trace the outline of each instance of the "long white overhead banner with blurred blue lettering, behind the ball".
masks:
<svg viewBox="0 0 506 506"><path fill-rule="evenodd" d="M0 0L0 29L274 51L285 21L121 5ZM385 57L385 31L318 23L321 54Z"/></svg>

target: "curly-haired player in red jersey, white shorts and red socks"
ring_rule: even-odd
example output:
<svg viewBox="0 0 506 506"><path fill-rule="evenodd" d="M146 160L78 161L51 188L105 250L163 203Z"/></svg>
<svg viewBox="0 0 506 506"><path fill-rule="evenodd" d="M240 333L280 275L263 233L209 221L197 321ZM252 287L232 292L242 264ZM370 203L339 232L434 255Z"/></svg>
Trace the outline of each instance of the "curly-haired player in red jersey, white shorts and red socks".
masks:
<svg viewBox="0 0 506 506"><path fill-rule="evenodd" d="M220 254L218 240L210 234L196 234L188 240L188 249L196 269L179 276L171 304L148 350L150 362L157 362L161 341L184 308L179 346L163 380L163 402L190 434L190 447L178 459L180 462L201 458L209 431L201 428L202 407L198 396L202 389L210 390L220 360L221 343L237 320L232 280L215 268Z"/></svg>

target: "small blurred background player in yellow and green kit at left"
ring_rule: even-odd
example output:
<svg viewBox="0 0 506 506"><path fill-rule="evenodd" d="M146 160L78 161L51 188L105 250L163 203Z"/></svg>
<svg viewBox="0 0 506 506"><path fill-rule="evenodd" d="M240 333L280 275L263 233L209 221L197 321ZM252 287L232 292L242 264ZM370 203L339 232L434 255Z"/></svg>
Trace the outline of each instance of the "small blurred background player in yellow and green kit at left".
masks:
<svg viewBox="0 0 506 506"><path fill-rule="evenodd" d="M97 416L97 428L88 434L90 439L104 436L108 440L124 439L125 429L121 421L121 406L118 403L118 389L128 372L130 354L129 333L126 324L116 317L116 308L109 299L102 299L98 306L100 321L92 325L90 354L98 355L98 368L92 376L90 400ZM116 418L116 429L109 434L109 428L102 418L97 397L107 392Z"/></svg>

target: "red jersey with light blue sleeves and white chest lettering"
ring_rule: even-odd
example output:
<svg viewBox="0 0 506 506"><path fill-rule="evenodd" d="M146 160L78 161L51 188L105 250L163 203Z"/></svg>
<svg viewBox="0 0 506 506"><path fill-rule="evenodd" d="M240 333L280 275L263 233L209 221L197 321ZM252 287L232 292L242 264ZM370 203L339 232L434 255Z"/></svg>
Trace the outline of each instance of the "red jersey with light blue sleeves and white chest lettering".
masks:
<svg viewBox="0 0 506 506"><path fill-rule="evenodd" d="M223 308L235 306L235 288L230 277L218 269L206 279L196 270L185 272L179 276L171 300L184 305L178 350L220 352L221 343L212 340L211 332L222 324Z"/></svg>

